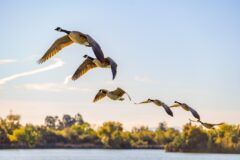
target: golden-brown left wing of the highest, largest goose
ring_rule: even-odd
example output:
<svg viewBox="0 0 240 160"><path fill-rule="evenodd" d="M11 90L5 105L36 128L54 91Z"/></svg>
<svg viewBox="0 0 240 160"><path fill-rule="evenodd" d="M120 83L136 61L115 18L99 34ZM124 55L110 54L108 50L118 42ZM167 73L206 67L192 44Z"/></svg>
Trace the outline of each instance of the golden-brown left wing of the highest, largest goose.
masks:
<svg viewBox="0 0 240 160"><path fill-rule="evenodd" d="M49 58L53 57L56 55L61 49L63 49L66 46L69 46L72 44L73 41L68 37L68 35L63 36L59 39L57 39L52 46L47 50L47 52L42 56L40 60L38 60L38 63L43 63Z"/></svg>

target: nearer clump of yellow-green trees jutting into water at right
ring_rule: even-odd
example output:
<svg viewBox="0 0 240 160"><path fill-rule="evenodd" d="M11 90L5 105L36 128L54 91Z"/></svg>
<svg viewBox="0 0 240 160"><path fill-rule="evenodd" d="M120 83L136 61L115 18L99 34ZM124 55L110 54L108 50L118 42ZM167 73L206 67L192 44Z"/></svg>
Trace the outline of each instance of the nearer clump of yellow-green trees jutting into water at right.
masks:
<svg viewBox="0 0 240 160"><path fill-rule="evenodd" d="M206 130L188 123L165 149L172 152L240 153L239 126L224 124L217 129Z"/></svg>

